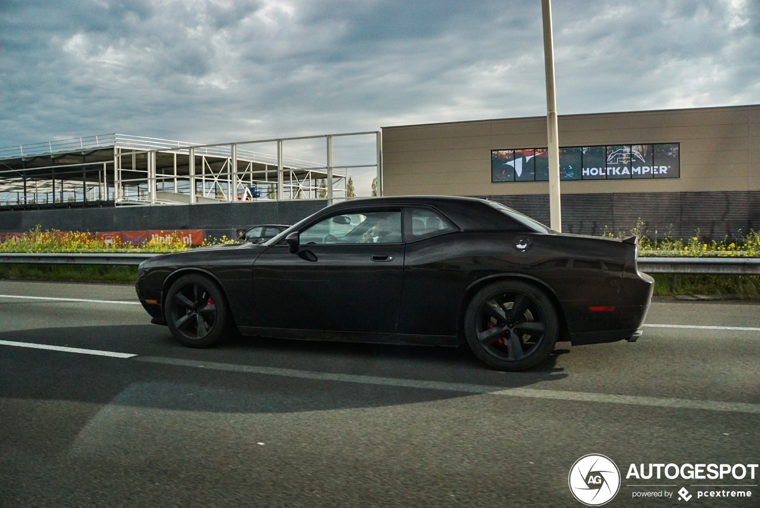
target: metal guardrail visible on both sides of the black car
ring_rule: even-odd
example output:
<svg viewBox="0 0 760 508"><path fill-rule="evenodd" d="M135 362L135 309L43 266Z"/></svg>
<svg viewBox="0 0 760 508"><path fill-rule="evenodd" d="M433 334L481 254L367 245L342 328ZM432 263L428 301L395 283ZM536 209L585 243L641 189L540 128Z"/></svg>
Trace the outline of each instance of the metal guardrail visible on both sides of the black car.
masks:
<svg viewBox="0 0 760 508"><path fill-rule="evenodd" d="M149 252L7 252L0 263L50 265L139 265L161 256ZM648 274L760 275L760 258L638 258L638 270Z"/></svg>

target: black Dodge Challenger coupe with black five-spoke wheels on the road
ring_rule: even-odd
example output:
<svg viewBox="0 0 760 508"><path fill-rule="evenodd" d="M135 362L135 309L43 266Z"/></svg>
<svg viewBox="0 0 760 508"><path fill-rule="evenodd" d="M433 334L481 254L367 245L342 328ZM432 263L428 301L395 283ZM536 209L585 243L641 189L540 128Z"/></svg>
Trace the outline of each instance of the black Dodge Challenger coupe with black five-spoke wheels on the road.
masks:
<svg viewBox="0 0 760 508"><path fill-rule="evenodd" d="M135 287L156 324L205 348L243 335L389 344L467 343L524 370L556 341L641 334L653 279L636 237L557 233L476 198L355 199L261 245L157 256Z"/></svg>

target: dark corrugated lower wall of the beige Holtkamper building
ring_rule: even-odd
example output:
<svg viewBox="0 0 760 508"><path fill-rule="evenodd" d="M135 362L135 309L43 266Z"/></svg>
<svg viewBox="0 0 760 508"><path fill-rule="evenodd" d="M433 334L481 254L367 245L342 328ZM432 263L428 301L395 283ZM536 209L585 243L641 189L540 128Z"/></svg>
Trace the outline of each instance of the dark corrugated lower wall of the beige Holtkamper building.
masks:
<svg viewBox="0 0 760 508"><path fill-rule="evenodd" d="M480 196L549 224L548 195ZM648 236L742 239L760 230L760 192L629 192L562 195L562 231L617 234L644 221Z"/></svg>

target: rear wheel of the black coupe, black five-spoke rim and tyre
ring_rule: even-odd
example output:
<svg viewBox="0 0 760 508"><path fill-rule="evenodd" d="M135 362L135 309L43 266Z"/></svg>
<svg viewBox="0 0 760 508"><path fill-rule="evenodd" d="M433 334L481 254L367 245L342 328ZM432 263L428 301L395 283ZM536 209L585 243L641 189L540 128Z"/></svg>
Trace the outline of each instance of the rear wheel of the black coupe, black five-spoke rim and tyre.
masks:
<svg viewBox="0 0 760 508"><path fill-rule="evenodd" d="M496 370L518 371L540 364L559 335L557 312L533 284L489 284L470 300L464 335L475 356Z"/></svg>

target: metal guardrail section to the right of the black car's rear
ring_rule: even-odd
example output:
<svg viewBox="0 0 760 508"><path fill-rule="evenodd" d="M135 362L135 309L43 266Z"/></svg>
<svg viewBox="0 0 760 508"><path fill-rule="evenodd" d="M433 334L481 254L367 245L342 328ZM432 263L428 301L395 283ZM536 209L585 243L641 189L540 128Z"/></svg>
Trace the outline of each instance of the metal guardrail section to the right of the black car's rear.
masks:
<svg viewBox="0 0 760 508"><path fill-rule="evenodd" d="M637 259L647 274L760 275L760 258L647 258Z"/></svg>

